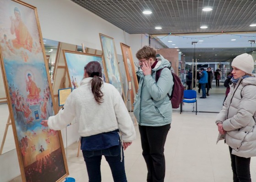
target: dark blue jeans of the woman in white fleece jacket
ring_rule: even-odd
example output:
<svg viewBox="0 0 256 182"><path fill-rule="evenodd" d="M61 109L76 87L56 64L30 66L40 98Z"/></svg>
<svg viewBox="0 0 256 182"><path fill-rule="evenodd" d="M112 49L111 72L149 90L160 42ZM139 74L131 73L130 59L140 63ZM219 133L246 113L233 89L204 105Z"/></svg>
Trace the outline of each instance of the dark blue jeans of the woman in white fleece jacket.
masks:
<svg viewBox="0 0 256 182"><path fill-rule="evenodd" d="M123 147L122 147L123 153ZM98 151L83 151L89 182L101 182L101 158L105 156L114 182L127 182L124 157L121 162L121 144Z"/></svg>

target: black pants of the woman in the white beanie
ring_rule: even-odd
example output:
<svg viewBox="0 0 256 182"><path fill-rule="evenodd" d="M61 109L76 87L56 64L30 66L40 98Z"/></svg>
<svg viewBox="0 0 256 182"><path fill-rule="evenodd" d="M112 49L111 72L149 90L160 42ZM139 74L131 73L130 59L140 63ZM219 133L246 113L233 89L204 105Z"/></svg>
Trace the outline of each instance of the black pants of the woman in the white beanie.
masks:
<svg viewBox="0 0 256 182"><path fill-rule="evenodd" d="M231 154L232 148L229 147L231 157L231 167L233 171L233 182L251 182L250 161L251 158L238 157Z"/></svg>

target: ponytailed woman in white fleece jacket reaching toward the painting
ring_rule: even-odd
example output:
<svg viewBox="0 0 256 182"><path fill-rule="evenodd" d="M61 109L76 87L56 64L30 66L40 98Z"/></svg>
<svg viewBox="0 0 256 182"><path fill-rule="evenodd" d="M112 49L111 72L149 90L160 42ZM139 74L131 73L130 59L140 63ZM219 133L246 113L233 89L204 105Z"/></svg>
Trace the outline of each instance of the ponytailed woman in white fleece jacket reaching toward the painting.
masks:
<svg viewBox="0 0 256 182"><path fill-rule="evenodd" d="M76 117L89 181L101 182L101 157L105 156L114 182L127 182L123 149L131 145L136 133L120 93L103 82L101 70L99 62L89 62L81 86L71 92L64 108L41 124L61 130Z"/></svg>

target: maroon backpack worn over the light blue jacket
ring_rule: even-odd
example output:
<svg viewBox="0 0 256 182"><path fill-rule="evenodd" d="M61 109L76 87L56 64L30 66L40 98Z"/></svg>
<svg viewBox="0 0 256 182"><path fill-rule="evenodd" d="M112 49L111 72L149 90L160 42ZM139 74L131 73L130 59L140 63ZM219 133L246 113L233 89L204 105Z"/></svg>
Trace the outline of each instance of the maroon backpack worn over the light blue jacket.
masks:
<svg viewBox="0 0 256 182"><path fill-rule="evenodd" d="M167 68L167 67L164 67L164 68ZM161 74L161 71L164 68L156 71L156 74L155 74L155 81L156 82L158 81L158 79L160 77L160 74ZM174 74L173 72L171 72L171 74L172 74L172 77L173 77L173 83L174 84L172 86L171 96L169 95L169 93L167 95L171 100L172 108L179 108L179 106L182 102L182 99L183 99L184 86L181 83L181 79L178 76L176 76L176 74Z"/></svg>

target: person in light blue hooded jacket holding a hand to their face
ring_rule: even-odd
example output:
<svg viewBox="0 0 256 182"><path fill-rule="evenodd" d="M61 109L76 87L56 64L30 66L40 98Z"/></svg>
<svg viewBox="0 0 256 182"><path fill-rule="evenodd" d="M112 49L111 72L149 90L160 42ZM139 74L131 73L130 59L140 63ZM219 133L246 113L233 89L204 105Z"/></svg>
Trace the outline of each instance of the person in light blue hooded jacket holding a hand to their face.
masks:
<svg viewBox="0 0 256 182"><path fill-rule="evenodd" d="M157 55L155 49L144 46L137 53L140 69L139 91L133 113L139 122L142 155L148 168L147 182L164 182L164 145L171 128L171 95L173 78L169 61ZM162 69L158 81L156 71Z"/></svg>

